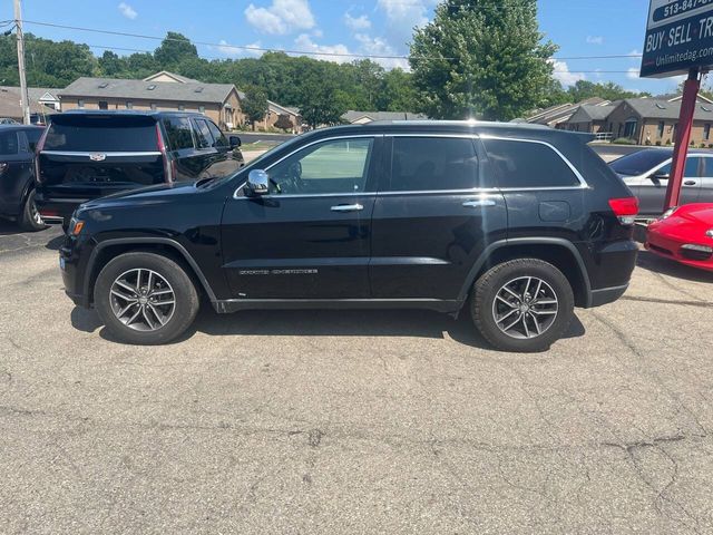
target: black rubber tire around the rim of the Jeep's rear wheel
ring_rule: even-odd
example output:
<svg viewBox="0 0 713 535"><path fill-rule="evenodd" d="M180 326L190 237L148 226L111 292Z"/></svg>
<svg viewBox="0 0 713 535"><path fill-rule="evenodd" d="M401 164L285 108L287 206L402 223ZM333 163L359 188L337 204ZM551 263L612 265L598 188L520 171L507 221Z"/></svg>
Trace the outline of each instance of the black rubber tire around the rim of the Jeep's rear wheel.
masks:
<svg viewBox="0 0 713 535"><path fill-rule="evenodd" d="M516 320L518 317L524 318L521 321L526 324L521 325L520 323L517 323L515 329L519 329L521 327L521 331L527 332L529 325L529 333L531 334L533 331L535 331L534 338L515 338L515 335L522 335L522 333L510 331L510 334L508 334L504 331L507 324L510 323L510 320L507 321L507 324L506 322L502 322L504 329L498 327L495 317L494 303L496 302L498 293L506 284L512 281L524 280L521 284L525 285L526 283L529 283L527 278L535 278L536 280L544 281L544 288L546 290L543 290L543 292L554 293L557 304L549 304L549 307L556 307L557 313L555 314L554 320L545 320L550 321L550 323L543 330L541 334L537 334L533 321L536 321L539 318L540 321L538 321L537 325L537 329L539 330L540 327L543 327L540 325L541 318L549 317L540 317L539 314L535 317L533 313L524 313L519 307L514 307L511 304L504 307L502 304L498 304L498 307L505 308L505 313L508 312L507 307L512 307L512 309L515 309L512 318ZM527 295L529 295L529 293L527 293ZM498 302L500 303L501 301L498 300ZM512 302L518 301L512 300ZM575 299L572 285L561 271L553 264L541 260L518 259L504 262L491 268L482 274L478 281L476 281L472 290L472 299L470 300L470 312L473 323L480 333L495 348L512 352L539 352L547 350L554 342L566 334L574 318L574 302ZM533 308L535 308L535 305L533 305ZM526 308L526 311L528 310L530 310L530 308Z"/></svg>

